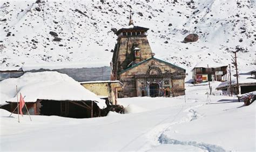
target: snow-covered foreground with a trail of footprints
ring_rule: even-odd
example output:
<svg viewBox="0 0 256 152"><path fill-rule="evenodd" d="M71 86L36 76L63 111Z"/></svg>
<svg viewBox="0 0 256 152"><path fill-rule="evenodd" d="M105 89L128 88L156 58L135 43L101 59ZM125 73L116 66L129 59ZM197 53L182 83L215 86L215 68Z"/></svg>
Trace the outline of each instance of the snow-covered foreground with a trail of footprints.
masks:
<svg viewBox="0 0 256 152"><path fill-rule="evenodd" d="M186 84L186 96L119 99L126 114L93 119L33 115L18 123L0 109L0 150L255 151L255 103L207 92Z"/></svg>

